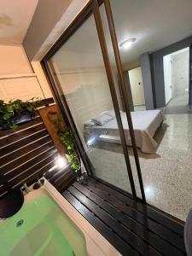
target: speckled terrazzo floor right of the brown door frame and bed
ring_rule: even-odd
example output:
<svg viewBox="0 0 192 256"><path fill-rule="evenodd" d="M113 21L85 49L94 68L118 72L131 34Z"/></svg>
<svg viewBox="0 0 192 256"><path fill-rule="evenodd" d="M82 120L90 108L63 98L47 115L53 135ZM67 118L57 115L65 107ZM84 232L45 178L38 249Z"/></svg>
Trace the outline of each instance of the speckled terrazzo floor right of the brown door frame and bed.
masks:
<svg viewBox="0 0 192 256"><path fill-rule="evenodd" d="M148 203L183 221L192 207L191 127L190 113L166 114L154 137L160 143L156 153L138 150Z"/></svg>

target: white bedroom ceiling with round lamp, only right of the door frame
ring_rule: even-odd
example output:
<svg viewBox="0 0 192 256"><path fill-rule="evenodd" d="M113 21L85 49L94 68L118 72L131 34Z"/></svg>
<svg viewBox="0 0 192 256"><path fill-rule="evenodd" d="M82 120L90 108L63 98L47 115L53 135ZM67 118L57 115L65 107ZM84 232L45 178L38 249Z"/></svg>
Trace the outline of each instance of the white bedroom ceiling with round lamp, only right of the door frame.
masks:
<svg viewBox="0 0 192 256"><path fill-rule="evenodd" d="M133 47L121 49L124 63L192 35L191 0L111 0L119 44L137 38Z"/></svg>

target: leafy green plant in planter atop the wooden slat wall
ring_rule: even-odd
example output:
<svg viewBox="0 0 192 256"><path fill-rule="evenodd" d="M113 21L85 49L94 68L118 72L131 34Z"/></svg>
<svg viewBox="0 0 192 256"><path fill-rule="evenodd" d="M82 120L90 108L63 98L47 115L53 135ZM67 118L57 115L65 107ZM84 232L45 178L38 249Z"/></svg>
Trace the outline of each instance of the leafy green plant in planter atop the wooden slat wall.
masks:
<svg viewBox="0 0 192 256"><path fill-rule="evenodd" d="M38 98L29 101L11 100L8 103L0 100L0 129L16 130L18 125L30 121L34 115Z"/></svg>

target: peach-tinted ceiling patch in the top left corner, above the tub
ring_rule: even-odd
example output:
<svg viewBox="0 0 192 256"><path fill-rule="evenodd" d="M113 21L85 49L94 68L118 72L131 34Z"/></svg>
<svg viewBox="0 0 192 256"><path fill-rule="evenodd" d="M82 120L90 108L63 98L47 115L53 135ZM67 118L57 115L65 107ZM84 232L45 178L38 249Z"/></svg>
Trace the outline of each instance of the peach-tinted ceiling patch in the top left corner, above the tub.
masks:
<svg viewBox="0 0 192 256"><path fill-rule="evenodd" d="M0 44L22 44L38 0L0 1Z"/></svg>

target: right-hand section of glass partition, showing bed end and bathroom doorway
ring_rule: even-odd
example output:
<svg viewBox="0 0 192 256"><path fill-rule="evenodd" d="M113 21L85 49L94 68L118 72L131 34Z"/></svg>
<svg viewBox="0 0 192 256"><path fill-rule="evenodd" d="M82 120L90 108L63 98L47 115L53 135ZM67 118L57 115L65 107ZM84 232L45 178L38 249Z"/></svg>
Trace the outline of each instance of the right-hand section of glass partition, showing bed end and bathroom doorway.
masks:
<svg viewBox="0 0 192 256"><path fill-rule="evenodd" d="M110 0L133 125L146 143L139 145L137 132L146 200L185 221L192 207L192 2L173 2Z"/></svg>

